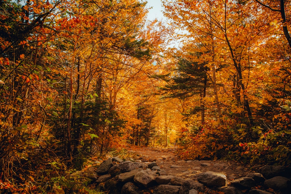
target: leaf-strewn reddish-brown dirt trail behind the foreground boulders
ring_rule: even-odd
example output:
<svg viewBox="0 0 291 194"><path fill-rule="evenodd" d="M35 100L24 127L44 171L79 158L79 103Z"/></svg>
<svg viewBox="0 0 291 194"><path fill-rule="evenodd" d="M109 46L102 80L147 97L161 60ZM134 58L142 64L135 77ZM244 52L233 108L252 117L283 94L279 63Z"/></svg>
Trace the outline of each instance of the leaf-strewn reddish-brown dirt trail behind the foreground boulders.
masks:
<svg viewBox="0 0 291 194"><path fill-rule="evenodd" d="M143 162L156 161L161 170L168 175L195 179L200 172L214 171L226 175L228 181L245 177L250 172L258 171L259 166L242 165L235 161L184 161L178 159L177 147L127 147L128 153Z"/></svg>

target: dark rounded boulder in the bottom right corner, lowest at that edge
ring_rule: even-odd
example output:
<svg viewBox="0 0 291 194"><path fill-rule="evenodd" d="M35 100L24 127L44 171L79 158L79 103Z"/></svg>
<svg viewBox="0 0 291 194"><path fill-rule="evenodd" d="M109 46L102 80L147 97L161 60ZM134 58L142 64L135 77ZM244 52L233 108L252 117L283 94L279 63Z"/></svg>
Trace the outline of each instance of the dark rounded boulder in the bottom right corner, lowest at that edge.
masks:
<svg viewBox="0 0 291 194"><path fill-rule="evenodd" d="M272 188L275 191L281 191L283 193L287 193L287 191L291 189L290 180L286 177L273 177L272 179L265 180L264 182L265 188Z"/></svg>

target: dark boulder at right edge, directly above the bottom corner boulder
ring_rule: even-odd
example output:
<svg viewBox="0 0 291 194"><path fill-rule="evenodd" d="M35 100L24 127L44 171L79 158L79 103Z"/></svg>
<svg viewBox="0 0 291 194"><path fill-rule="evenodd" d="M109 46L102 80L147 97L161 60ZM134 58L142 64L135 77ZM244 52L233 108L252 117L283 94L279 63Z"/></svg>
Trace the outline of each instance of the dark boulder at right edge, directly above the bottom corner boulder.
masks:
<svg viewBox="0 0 291 194"><path fill-rule="evenodd" d="M291 176L290 168L285 166L263 166L261 173L266 179L270 179L277 176L288 177Z"/></svg>

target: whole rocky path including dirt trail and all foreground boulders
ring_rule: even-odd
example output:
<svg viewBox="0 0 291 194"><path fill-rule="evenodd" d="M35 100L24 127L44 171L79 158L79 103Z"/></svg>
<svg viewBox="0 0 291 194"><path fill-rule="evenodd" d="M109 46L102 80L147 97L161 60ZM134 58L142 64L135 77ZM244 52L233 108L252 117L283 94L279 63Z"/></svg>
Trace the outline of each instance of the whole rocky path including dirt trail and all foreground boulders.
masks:
<svg viewBox="0 0 291 194"><path fill-rule="evenodd" d="M291 169L242 165L235 161L184 161L177 148L127 147L69 179L89 178L109 194L289 194Z"/></svg>

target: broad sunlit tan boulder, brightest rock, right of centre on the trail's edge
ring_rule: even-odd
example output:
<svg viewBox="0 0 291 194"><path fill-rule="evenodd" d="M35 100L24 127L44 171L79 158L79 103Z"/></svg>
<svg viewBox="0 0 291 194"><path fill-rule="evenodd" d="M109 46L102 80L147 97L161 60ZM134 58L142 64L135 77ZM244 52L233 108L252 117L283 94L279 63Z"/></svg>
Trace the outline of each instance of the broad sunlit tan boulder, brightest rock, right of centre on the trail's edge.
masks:
<svg viewBox="0 0 291 194"><path fill-rule="evenodd" d="M207 186L225 186L226 176L219 172L202 172L198 175L197 180Z"/></svg>

